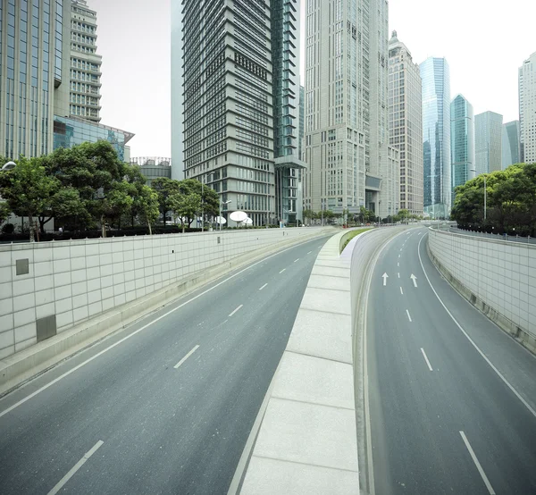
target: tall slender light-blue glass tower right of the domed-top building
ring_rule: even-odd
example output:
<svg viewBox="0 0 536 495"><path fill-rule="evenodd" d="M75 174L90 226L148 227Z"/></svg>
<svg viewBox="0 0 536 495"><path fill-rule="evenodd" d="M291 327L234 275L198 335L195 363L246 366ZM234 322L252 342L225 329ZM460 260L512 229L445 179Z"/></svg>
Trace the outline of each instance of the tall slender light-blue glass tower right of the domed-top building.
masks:
<svg viewBox="0 0 536 495"><path fill-rule="evenodd" d="M450 69L444 58L420 65L423 79L423 206L433 218L450 214Z"/></svg>

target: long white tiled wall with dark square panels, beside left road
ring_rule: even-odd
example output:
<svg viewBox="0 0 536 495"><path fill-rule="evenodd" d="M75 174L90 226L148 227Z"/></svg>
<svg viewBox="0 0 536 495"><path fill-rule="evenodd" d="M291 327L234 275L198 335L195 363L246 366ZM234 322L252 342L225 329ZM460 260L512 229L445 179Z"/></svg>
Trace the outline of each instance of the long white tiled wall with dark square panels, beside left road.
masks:
<svg viewBox="0 0 536 495"><path fill-rule="evenodd" d="M2 245L0 359L211 267L325 230L252 229Z"/></svg>

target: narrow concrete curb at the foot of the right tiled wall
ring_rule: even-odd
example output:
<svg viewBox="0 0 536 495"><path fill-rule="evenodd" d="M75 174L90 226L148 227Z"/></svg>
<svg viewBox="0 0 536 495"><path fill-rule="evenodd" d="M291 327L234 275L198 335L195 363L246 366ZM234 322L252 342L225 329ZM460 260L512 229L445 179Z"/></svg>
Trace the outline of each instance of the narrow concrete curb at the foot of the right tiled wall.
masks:
<svg viewBox="0 0 536 495"><path fill-rule="evenodd" d="M426 251L438 272L446 281L448 281L448 283L460 296L465 298L469 303L476 307L476 309L478 309L483 315L486 315L498 326L498 328L500 328L502 331L506 331L509 335L514 337L515 340L517 340L524 348L527 348L533 354L536 354L536 338L517 326L505 315L501 315L496 309L493 309L487 305L484 301L482 301L481 298L478 298L475 294L473 294L470 289L467 289L467 287L465 287L461 281L458 281L456 277L450 273L447 268L441 264L440 260L431 252L428 238L426 239Z"/></svg>

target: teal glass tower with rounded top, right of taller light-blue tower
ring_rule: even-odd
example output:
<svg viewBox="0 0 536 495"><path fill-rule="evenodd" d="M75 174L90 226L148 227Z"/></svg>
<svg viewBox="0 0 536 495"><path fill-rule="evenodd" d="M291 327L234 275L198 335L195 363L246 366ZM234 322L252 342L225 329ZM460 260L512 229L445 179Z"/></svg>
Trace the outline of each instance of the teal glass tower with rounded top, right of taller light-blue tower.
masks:
<svg viewBox="0 0 536 495"><path fill-rule="evenodd" d="M455 189L475 176L474 113L463 95L450 104L450 157L452 161L452 205Z"/></svg>

